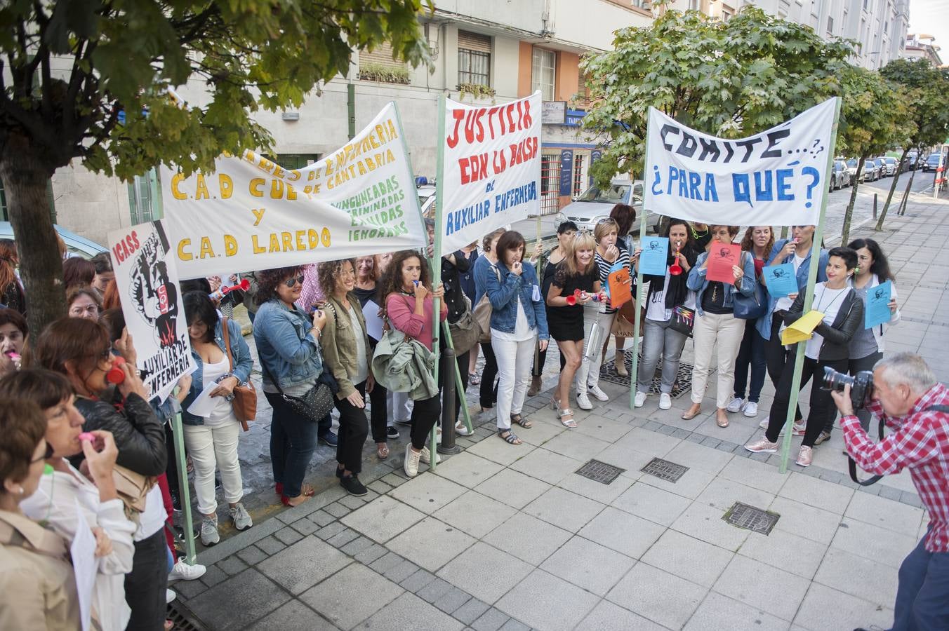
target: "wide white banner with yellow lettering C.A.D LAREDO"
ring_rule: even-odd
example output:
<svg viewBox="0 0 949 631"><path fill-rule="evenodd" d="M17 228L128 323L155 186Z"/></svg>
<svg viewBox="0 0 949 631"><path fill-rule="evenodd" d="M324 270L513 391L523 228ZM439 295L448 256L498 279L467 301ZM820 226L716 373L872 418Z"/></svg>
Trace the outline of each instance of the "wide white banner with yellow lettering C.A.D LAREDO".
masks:
<svg viewBox="0 0 949 631"><path fill-rule="evenodd" d="M343 148L303 169L247 151L218 158L214 173L183 177L162 167L161 194L182 279L425 243L395 103Z"/></svg>

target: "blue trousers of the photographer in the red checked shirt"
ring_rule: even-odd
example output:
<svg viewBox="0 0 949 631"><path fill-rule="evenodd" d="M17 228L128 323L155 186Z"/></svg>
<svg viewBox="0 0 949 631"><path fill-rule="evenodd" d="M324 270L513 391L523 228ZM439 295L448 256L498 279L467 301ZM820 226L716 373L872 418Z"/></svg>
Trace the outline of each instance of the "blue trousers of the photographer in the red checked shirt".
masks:
<svg viewBox="0 0 949 631"><path fill-rule="evenodd" d="M927 552L928 536L900 566L892 631L949 629L949 552Z"/></svg>

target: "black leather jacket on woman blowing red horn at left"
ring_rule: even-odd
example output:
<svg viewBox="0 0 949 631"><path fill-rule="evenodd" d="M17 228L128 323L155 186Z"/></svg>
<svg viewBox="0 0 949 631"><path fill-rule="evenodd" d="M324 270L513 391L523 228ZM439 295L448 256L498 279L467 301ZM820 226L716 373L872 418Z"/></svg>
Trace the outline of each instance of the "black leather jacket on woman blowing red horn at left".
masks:
<svg viewBox="0 0 949 631"><path fill-rule="evenodd" d="M165 473L168 463L165 429L152 406L135 393L129 394L121 406L113 406L109 401L76 399L76 408L85 419L83 431L104 429L112 432L119 448L116 464L142 476Z"/></svg>

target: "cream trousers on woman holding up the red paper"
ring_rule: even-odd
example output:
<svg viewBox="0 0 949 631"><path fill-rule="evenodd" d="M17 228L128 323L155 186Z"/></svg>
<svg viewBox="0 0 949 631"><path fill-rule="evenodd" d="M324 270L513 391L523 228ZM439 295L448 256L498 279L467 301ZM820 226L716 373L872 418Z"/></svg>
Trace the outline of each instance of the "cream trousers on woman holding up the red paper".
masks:
<svg viewBox="0 0 949 631"><path fill-rule="evenodd" d="M712 353L718 345L718 378L716 407L727 407L735 391L735 357L745 335L745 320L732 314L696 314L692 339L696 344L696 367L692 371L692 403L700 404L705 397L709 373L712 371Z"/></svg>

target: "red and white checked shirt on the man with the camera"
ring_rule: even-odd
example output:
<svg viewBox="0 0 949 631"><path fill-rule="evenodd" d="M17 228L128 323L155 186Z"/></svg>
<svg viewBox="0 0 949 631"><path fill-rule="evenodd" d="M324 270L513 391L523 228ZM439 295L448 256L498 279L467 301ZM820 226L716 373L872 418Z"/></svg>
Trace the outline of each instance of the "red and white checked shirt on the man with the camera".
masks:
<svg viewBox="0 0 949 631"><path fill-rule="evenodd" d="M926 550L949 551L949 414L923 410L929 406L949 406L949 389L936 384L916 402L910 413L898 419L884 414L877 401L866 406L895 430L881 442L866 438L860 419L840 420L847 453L871 474L895 474L909 467L909 475L929 511L930 532Z"/></svg>

